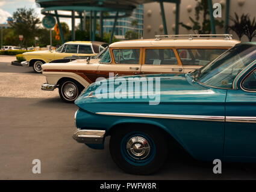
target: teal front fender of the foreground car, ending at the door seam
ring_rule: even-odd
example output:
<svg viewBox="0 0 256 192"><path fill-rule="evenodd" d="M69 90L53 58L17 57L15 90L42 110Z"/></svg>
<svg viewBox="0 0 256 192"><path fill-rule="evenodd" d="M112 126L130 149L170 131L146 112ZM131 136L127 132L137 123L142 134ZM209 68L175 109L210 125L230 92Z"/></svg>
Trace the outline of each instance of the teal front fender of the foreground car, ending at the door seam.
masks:
<svg viewBox="0 0 256 192"><path fill-rule="evenodd" d="M175 79L175 80L173 80ZM175 82L173 82L175 81ZM176 86L178 83L179 86ZM169 86L167 86L169 85ZM82 109L76 116L79 128L101 129L107 133L117 124L142 123L163 128L194 158L213 160L222 158L224 128L223 121L196 121L184 119L145 118L133 116L98 115L98 112L155 113L171 115L225 116L226 90L206 88L192 83L184 76L161 80L161 102L149 105L148 100L134 98L111 99L87 97L84 92L76 105ZM120 127L122 128L122 126Z"/></svg>

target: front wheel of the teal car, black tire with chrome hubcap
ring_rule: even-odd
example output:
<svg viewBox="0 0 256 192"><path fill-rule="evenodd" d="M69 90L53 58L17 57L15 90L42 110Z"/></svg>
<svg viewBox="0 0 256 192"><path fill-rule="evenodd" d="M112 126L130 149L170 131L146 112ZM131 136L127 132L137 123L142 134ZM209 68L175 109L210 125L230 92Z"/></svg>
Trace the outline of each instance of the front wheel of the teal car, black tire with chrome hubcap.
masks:
<svg viewBox="0 0 256 192"><path fill-rule="evenodd" d="M136 175L149 175L167 158L166 136L152 127L119 127L111 134L110 153L120 169Z"/></svg>

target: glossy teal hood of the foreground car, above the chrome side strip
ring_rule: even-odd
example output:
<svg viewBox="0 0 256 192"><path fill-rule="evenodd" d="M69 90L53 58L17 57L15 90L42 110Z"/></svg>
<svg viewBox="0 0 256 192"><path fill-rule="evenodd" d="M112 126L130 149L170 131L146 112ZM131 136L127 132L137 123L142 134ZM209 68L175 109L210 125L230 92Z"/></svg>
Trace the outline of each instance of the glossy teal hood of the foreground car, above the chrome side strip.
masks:
<svg viewBox="0 0 256 192"><path fill-rule="evenodd" d="M144 85L148 84L144 89L149 88L151 79L155 79L155 82L153 81L154 83L151 85L154 89L153 91L149 90L149 92L147 90L142 91L142 86L140 91L136 91L135 88L133 90L129 89L129 78L139 79L140 85L143 85L143 83L145 83ZM126 85L122 85L124 82L126 82ZM159 83L160 88L157 87ZM123 97L120 97L120 94L115 95L117 90L120 90L120 85L124 90L122 92ZM134 85L134 87L137 88L138 86ZM205 98L207 98L207 101L223 102L225 94L225 90L208 88L207 86L193 83L189 74L154 74L115 77L111 80L107 79L92 83L84 89L80 97L76 99L75 104L81 109L89 110L90 112L101 112L102 110L111 112L111 109L119 112L128 112L130 109L134 112L134 107L155 106L164 103L205 102ZM144 106L137 104L143 104Z"/></svg>

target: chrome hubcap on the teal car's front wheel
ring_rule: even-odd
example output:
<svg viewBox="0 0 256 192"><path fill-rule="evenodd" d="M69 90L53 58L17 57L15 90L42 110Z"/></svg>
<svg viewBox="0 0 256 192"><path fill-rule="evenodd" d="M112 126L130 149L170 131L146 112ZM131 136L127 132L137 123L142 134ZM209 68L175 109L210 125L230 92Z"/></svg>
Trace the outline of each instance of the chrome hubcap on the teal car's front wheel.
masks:
<svg viewBox="0 0 256 192"><path fill-rule="evenodd" d="M137 159L142 160L148 157L150 152L150 146L148 140L143 137L132 137L126 144L128 154Z"/></svg>

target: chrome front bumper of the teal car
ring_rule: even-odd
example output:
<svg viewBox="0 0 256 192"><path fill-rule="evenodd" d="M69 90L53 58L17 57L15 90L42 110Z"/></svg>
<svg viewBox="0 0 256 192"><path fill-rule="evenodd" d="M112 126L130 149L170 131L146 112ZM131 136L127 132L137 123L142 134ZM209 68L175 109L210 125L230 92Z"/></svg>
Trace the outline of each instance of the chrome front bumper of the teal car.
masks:
<svg viewBox="0 0 256 192"><path fill-rule="evenodd" d="M73 134L73 139L78 143L102 144L105 132L104 130L78 130Z"/></svg>

